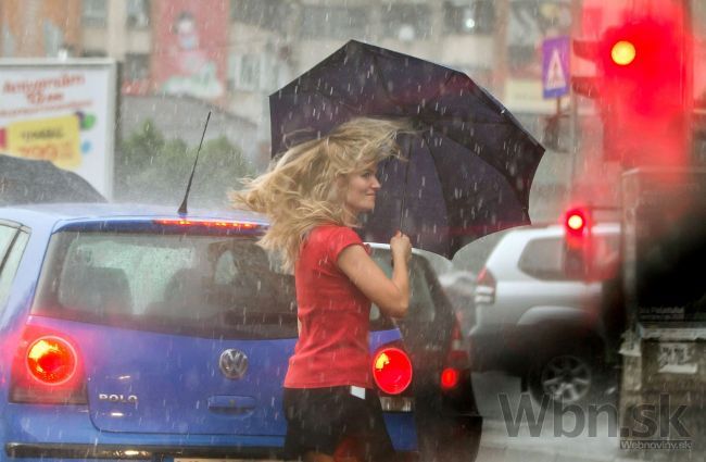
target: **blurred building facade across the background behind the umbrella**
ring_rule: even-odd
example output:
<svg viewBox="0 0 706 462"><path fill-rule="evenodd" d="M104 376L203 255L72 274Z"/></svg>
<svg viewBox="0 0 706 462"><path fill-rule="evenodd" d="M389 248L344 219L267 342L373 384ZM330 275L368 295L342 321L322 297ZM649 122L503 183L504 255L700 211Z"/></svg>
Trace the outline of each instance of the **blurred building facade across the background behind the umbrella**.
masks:
<svg viewBox="0 0 706 462"><path fill-rule="evenodd" d="M557 107L542 98L541 42L570 33L571 5L570 0L2 0L0 51L14 58L116 59L125 96L196 98L255 127L254 146L243 150L262 167L269 157L267 96L349 39L467 73L541 138ZM154 104L144 116L164 111ZM547 151L533 188L537 216L556 214L569 176L569 157Z"/></svg>

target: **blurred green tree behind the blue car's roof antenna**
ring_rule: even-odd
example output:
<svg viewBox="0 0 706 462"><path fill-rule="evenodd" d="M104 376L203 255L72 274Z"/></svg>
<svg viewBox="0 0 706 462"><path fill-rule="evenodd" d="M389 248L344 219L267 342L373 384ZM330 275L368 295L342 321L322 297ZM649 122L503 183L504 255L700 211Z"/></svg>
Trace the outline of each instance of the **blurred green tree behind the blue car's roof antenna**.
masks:
<svg viewBox="0 0 706 462"><path fill-rule="evenodd" d="M166 139L148 120L119 147L115 166L117 200L174 207L181 203L198 146L187 146L179 138ZM241 149L225 136L204 141L193 175L189 205L227 207L227 192L239 187L240 178L254 173Z"/></svg>

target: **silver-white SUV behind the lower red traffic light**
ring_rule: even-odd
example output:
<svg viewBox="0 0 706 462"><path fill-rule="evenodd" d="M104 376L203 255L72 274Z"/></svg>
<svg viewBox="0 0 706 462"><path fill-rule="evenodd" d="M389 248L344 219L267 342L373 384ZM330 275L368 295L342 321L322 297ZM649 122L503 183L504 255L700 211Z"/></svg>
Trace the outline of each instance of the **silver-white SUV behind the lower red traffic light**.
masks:
<svg viewBox="0 0 706 462"><path fill-rule="evenodd" d="M593 226L591 274L598 276L582 280L564 271L562 226L508 232L478 274L474 371L517 375L543 405L597 391L616 325L616 313L604 312L602 280L616 267L619 233L615 223Z"/></svg>

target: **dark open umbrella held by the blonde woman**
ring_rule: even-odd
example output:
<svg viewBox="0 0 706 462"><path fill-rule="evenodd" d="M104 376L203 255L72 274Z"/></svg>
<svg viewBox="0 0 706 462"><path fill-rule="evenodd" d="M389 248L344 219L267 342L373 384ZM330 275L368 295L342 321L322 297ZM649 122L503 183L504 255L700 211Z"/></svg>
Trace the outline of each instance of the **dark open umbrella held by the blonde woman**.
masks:
<svg viewBox="0 0 706 462"><path fill-rule="evenodd" d="M544 148L467 75L355 40L269 96L272 152L356 116L406 118L408 162L380 166L382 188L363 237L394 230L451 258L487 234L530 223L529 192Z"/></svg>

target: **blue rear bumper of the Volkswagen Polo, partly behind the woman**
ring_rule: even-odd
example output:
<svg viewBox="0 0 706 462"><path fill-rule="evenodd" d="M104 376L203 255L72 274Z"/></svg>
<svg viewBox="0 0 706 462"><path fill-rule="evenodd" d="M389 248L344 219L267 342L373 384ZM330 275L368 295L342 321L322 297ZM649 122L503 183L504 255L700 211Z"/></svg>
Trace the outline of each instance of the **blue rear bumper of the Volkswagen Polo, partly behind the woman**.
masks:
<svg viewBox="0 0 706 462"><path fill-rule="evenodd" d="M276 459L283 435L146 434L100 432L84 407L12 404L0 415L0 461ZM414 412L384 412L399 453L416 453ZM31 423L28 425L27 423ZM406 460L406 459L403 459Z"/></svg>

